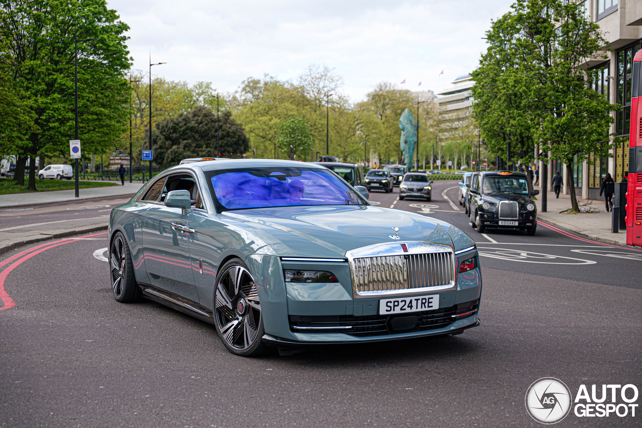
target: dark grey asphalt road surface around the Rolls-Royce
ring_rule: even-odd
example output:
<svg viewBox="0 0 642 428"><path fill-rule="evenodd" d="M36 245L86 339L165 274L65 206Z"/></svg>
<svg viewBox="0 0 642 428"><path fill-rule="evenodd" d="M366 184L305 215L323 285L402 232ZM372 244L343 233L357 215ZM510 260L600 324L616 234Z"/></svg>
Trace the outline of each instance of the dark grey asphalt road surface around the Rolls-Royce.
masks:
<svg viewBox="0 0 642 428"><path fill-rule="evenodd" d="M541 377L574 397L580 384L642 389L642 252L541 226L534 237L477 234L442 196L453 185L435 184L425 215L461 227L483 253L482 325L459 336L247 359L207 323L150 301L118 304L104 234L0 266L15 302L0 308L0 426L534 427L524 397ZM397 196L370 200L424 203ZM446 196L459 207L455 189ZM639 417L571 413L556 426Z"/></svg>

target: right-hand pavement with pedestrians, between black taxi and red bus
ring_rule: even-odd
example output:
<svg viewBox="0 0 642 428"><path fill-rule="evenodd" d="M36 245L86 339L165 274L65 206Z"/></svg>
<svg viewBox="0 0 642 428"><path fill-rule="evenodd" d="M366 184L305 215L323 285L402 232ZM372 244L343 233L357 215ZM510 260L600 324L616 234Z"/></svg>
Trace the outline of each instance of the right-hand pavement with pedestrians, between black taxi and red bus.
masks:
<svg viewBox="0 0 642 428"><path fill-rule="evenodd" d="M535 189L541 187L535 186ZM605 201L602 200L582 200L578 198L577 203L582 206L584 203L590 203L590 207L598 209L599 212L582 213L582 214L560 214L561 211L571 208L571 196L560 194L559 199L555 198L554 192L547 192L546 199L547 210L542 212L542 195L537 195L535 201L537 205L537 218L544 223L558 227L567 232L573 232L584 235L594 241L600 241L607 244L627 246L627 234L620 230L617 234L611 233L611 212L606 212Z"/></svg>

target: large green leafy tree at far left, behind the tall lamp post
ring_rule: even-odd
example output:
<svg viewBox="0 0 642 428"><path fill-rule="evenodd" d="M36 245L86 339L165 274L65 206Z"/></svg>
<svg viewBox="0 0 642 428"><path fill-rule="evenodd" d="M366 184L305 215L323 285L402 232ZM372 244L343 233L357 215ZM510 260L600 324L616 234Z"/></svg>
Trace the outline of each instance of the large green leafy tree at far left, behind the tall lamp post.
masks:
<svg viewBox="0 0 642 428"><path fill-rule="evenodd" d="M30 158L28 189L35 189L35 158L69 153L74 138L74 32L78 39L78 116L83 151L111 146L125 130L130 67L128 26L105 0L0 0L0 39L35 126L22 149Z"/></svg>

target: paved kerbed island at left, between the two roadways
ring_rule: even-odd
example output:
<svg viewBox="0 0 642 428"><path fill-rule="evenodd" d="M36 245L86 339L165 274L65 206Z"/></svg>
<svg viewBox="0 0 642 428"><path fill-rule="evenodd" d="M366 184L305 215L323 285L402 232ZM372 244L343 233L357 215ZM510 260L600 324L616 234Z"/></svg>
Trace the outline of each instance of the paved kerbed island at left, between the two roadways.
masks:
<svg viewBox="0 0 642 428"><path fill-rule="evenodd" d="M22 245L62 238L96 230L107 230L109 216L47 221L0 229L0 254Z"/></svg>

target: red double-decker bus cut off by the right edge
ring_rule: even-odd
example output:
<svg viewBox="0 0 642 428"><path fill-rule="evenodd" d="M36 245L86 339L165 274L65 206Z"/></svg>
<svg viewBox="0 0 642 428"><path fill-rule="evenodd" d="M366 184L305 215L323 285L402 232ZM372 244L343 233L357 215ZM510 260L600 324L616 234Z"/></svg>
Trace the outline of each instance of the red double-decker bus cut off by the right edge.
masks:
<svg viewBox="0 0 642 428"><path fill-rule="evenodd" d="M627 244L642 246L642 50L633 59L629 184L627 187Z"/></svg>

